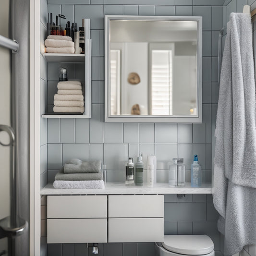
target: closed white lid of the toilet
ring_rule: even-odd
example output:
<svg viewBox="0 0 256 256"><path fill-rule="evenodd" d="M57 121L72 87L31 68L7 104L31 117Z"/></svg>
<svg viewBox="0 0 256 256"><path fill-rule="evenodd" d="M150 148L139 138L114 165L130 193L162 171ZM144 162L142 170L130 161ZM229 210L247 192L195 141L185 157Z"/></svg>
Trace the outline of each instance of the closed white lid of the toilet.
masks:
<svg viewBox="0 0 256 256"><path fill-rule="evenodd" d="M165 235L162 245L168 251L186 255L204 255L214 249L207 235Z"/></svg>

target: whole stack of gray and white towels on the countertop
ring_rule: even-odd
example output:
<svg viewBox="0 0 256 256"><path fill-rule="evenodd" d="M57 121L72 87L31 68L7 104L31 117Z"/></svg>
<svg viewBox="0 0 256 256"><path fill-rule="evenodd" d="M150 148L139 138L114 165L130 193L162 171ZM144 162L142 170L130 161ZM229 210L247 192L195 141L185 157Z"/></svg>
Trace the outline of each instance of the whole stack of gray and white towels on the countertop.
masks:
<svg viewBox="0 0 256 256"><path fill-rule="evenodd" d="M71 159L55 175L53 187L64 188L93 188L103 189L103 172L101 161L83 162L77 158Z"/></svg>

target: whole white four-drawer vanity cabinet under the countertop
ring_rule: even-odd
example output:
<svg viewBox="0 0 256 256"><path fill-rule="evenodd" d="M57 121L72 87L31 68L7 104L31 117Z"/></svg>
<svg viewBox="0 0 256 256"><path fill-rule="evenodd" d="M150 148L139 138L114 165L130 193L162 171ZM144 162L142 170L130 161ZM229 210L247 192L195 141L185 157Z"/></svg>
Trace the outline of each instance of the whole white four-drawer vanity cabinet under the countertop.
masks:
<svg viewBox="0 0 256 256"><path fill-rule="evenodd" d="M48 195L47 243L163 242L163 195Z"/></svg>

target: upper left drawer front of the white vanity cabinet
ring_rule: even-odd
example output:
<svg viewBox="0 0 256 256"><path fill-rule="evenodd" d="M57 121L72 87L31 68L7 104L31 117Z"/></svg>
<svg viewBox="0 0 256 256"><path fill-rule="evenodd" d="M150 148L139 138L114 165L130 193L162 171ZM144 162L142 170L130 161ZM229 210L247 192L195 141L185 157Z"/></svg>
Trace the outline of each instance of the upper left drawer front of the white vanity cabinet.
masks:
<svg viewBox="0 0 256 256"><path fill-rule="evenodd" d="M107 196L50 195L47 218L107 218Z"/></svg>

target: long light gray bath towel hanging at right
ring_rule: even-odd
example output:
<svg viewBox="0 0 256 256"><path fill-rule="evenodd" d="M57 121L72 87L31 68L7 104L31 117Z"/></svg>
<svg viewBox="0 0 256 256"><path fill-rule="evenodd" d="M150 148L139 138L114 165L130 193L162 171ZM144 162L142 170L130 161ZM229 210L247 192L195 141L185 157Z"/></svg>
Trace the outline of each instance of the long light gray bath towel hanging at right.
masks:
<svg viewBox="0 0 256 256"><path fill-rule="evenodd" d="M255 113L251 17L231 13L220 76L213 191L224 255L256 244Z"/></svg>

